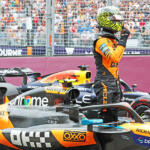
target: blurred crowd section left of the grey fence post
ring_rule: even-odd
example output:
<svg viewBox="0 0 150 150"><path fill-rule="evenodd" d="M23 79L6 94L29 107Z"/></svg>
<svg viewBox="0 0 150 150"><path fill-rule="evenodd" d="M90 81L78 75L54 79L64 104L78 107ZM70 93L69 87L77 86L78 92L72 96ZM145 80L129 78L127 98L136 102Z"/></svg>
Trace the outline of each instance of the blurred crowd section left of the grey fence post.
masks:
<svg viewBox="0 0 150 150"><path fill-rule="evenodd" d="M45 33L46 0L0 0L0 37L25 44ZM33 37L33 36L32 36Z"/></svg>

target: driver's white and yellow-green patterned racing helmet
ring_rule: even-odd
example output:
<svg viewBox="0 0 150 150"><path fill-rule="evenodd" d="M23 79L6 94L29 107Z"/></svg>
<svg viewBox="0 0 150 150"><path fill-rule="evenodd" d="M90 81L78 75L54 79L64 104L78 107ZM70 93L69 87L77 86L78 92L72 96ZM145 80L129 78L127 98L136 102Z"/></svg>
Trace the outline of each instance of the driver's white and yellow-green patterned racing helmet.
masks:
<svg viewBox="0 0 150 150"><path fill-rule="evenodd" d="M100 28L116 33L123 28L123 17L115 6L102 7L97 12L97 23Z"/></svg>

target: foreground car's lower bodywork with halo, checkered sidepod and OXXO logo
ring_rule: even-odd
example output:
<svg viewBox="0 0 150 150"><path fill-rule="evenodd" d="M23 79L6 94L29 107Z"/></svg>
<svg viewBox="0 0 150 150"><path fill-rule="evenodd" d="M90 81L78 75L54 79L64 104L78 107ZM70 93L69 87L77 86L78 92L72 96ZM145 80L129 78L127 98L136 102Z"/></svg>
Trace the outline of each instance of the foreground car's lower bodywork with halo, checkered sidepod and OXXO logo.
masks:
<svg viewBox="0 0 150 150"><path fill-rule="evenodd" d="M104 123L87 112L116 108L132 118ZM38 114L38 115L37 115ZM0 106L0 150L149 150L150 122L128 103L81 107Z"/></svg>

